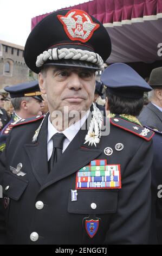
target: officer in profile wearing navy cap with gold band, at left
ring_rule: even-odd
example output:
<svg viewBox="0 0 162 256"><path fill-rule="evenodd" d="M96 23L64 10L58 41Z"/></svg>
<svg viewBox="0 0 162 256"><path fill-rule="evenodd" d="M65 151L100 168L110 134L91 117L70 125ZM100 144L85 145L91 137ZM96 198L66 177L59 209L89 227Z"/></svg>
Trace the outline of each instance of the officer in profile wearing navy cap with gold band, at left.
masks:
<svg viewBox="0 0 162 256"><path fill-rule="evenodd" d="M7 135L12 129L11 125L19 120L25 121L27 118L40 117L44 106L37 80L5 87L5 91L10 93L14 114L0 133L0 152L5 148Z"/></svg>

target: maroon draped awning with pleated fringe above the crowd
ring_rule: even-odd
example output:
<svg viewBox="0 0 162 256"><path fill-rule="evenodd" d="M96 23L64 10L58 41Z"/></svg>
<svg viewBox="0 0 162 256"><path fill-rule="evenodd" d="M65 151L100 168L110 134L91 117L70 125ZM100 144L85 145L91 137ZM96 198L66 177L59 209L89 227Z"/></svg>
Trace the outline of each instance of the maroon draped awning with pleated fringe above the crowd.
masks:
<svg viewBox="0 0 162 256"><path fill-rule="evenodd" d="M108 63L162 60L161 0L93 0L64 9L85 10L103 23L112 39ZM47 15L34 17L31 27Z"/></svg>

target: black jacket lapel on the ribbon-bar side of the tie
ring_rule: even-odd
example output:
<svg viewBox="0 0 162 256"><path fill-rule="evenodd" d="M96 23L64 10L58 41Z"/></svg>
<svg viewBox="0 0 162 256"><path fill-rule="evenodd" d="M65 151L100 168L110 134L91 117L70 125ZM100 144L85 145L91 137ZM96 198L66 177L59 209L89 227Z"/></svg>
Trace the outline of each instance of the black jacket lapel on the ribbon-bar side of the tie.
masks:
<svg viewBox="0 0 162 256"><path fill-rule="evenodd" d="M84 144L87 132L87 129L79 130L73 141L64 151L61 159L55 164L53 170L47 176L40 191L54 182L77 172L77 170L86 166L86 164L102 153L102 150L98 146L95 147L93 145L92 147L87 147L88 144Z"/></svg>

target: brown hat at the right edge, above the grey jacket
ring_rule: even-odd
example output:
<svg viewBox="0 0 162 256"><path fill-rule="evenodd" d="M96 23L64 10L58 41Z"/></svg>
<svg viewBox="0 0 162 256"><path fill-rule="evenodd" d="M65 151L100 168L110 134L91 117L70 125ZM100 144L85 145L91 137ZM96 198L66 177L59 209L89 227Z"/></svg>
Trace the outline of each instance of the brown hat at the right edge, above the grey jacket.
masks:
<svg viewBox="0 0 162 256"><path fill-rule="evenodd" d="M162 66L153 69L150 74L150 80L148 81L152 88L162 87Z"/></svg>

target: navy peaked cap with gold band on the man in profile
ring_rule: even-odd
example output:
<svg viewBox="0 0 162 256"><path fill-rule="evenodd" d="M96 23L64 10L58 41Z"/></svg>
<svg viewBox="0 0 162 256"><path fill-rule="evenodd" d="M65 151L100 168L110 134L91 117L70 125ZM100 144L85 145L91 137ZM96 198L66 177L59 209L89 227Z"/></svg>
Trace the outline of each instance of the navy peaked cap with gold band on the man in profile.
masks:
<svg viewBox="0 0 162 256"><path fill-rule="evenodd" d="M43 100L41 97L40 87L38 86L37 80L16 84L16 86L8 86L4 89L6 92L10 93L11 98L34 97L36 100Z"/></svg>

